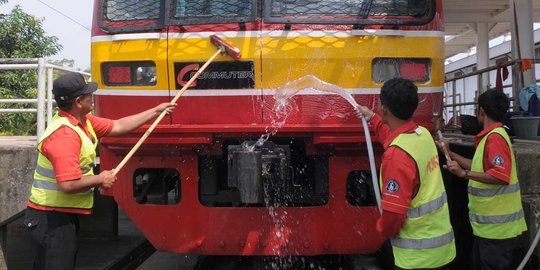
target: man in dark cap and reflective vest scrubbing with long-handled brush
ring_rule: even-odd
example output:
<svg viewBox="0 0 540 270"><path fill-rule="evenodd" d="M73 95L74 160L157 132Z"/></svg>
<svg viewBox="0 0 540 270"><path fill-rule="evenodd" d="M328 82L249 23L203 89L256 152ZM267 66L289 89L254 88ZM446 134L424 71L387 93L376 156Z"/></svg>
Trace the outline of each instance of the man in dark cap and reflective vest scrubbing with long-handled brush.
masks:
<svg viewBox="0 0 540 270"><path fill-rule="evenodd" d="M38 142L34 182L25 225L34 245L34 269L73 269L77 253L77 214L90 214L94 187L110 188L112 170L94 175L98 138L127 134L175 104L162 103L119 120L93 116L96 83L67 73L53 83L59 107Z"/></svg>

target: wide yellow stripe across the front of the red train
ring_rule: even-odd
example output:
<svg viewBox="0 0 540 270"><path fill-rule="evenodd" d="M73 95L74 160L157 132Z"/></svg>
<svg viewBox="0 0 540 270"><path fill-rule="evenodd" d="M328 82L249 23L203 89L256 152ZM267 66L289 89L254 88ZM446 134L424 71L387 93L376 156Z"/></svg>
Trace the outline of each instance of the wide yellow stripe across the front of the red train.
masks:
<svg viewBox="0 0 540 270"><path fill-rule="evenodd" d="M444 82L444 38L438 35L227 37L226 41L241 50L241 61L253 61L256 89L276 88L306 75L344 88L380 87L381 83L374 82L371 75L372 61L377 57L429 58L431 80L418 83L419 86L439 87ZM93 42L93 80L100 89L162 90L168 89L168 85L174 89L175 62L205 62L215 50L206 37ZM102 62L142 60L155 62L155 85L103 84ZM233 60L225 55L214 61Z"/></svg>

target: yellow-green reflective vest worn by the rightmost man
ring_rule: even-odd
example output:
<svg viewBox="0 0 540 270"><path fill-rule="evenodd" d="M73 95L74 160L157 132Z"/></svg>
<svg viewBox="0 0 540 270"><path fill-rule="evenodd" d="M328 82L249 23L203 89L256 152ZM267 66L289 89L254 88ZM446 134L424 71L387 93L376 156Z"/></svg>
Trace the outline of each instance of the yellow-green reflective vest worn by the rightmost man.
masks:
<svg viewBox="0 0 540 270"><path fill-rule="evenodd" d="M471 171L485 172L484 152L486 141L492 133L501 135L510 149L512 171L508 185L484 184L474 179L469 181L469 219L473 233L488 239L507 239L520 235L527 230L521 192L516 173L516 160L512 143L502 127L494 128L478 144L472 160ZM504 161L502 161L504 162Z"/></svg>

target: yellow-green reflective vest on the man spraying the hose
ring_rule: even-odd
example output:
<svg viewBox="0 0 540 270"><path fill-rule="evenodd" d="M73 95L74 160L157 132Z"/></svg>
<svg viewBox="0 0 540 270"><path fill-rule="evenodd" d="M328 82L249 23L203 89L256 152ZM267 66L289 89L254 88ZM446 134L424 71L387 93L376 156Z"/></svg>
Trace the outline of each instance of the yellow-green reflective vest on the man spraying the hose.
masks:
<svg viewBox="0 0 540 270"><path fill-rule="evenodd" d="M452 262L456 256L454 231L431 134L419 126L415 132L398 135L389 147L398 147L414 159L420 178L405 223L391 239L395 265L404 269L436 268Z"/></svg>

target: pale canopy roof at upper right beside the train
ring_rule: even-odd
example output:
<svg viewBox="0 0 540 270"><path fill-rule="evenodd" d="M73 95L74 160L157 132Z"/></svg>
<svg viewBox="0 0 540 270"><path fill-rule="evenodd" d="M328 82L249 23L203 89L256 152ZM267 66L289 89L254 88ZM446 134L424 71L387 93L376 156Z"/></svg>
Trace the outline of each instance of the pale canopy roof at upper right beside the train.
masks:
<svg viewBox="0 0 540 270"><path fill-rule="evenodd" d="M540 21L540 1L532 0L533 21ZM476 46L476 23L488 23L489 39L510 33L510 0L443 0L445 58ZM518 14L519 16L519 14Z"/></svg>

